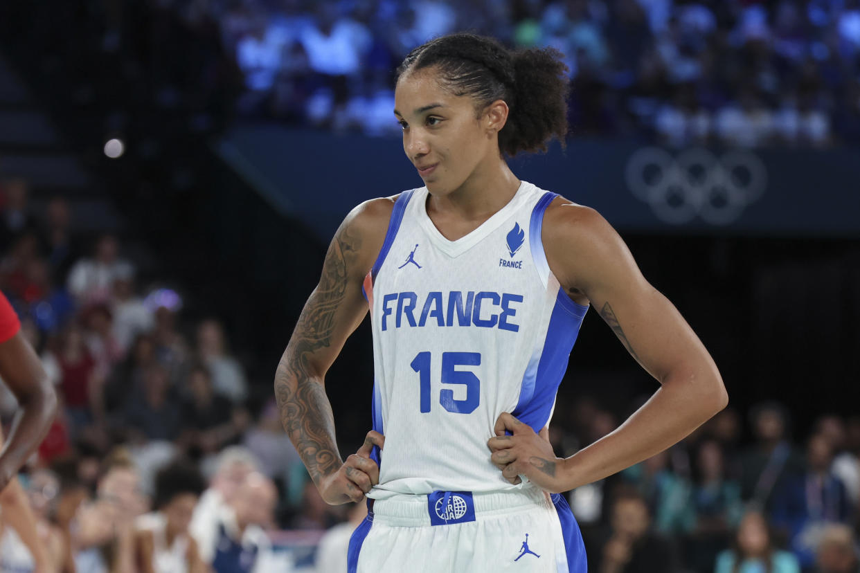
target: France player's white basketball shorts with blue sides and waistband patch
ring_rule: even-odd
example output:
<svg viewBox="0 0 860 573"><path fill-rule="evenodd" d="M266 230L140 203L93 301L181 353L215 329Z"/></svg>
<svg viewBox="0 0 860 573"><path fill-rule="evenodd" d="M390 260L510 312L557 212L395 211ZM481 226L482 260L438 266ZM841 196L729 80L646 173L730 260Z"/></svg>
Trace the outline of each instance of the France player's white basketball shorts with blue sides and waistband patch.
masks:
<svg viewBox="0 0 860 573"><path fill-rule="evenodd" d="M587 572L580 528L560 495L435 491L370 502L349 542L349 573Z"/></svg>

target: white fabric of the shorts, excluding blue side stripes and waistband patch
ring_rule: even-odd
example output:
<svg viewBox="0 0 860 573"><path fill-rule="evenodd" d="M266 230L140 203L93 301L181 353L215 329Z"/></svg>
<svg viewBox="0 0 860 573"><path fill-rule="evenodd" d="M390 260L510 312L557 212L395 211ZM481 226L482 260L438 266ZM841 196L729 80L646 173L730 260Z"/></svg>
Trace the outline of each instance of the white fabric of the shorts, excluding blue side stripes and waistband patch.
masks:
<svg viewBox="0 0 860 573"><path fill-rule="evenodd" d="M546 494L529 488L476 494L474 499L476 521L436 527L408 527L405 523L412 520L400 516L423 511L427 517L426 497L376 502L359 552L358 573L569 570L562 526ZM529 553L523 551L526 539Z"/></svg>

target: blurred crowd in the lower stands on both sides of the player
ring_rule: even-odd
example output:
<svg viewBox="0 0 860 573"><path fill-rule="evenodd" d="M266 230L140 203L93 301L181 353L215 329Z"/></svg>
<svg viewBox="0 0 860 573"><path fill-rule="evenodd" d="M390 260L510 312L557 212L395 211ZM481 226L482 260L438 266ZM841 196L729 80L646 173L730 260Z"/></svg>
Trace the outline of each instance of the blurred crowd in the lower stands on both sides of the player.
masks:
<svg viewBox="0 0 860 573"><path fill-rule="evenodd" d="M224 325L188 320L157 269L139 280L117 235L77 233L66 199L42 204L26 180L0 184L0 289L62 405L21 476L57 570L345 570L364 504L322 502L270 381L249 381ZM4 423L15 407L0 397ZM588 397L560 403L556 454L629 414ZM860 571L860 417L822 416L792 436L783 405L745 414L729 408L570 494L590 570ZM32 570L0 526L0 573Z"/></svg>

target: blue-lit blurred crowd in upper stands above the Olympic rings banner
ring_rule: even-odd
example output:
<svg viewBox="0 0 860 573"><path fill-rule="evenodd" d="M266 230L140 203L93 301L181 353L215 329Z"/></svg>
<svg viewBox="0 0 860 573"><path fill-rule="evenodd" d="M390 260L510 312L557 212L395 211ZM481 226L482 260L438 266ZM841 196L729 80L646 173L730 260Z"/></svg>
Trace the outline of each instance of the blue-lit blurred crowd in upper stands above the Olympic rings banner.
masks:
<svg viewBox="0 0 860 573"><path fill-rule="evenodd" d="M469 30L562 52L574 134L673 146L860 142L856 0L192 0L243 71L245 115L396 133L392 70Z"/></svg>

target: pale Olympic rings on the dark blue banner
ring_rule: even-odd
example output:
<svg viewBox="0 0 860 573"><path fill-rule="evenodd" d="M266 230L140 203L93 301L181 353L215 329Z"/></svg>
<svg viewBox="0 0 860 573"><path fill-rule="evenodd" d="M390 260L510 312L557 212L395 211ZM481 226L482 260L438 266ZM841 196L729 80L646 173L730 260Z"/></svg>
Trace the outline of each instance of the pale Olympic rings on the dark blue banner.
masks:
<svg viewBox="0 0 860 573"><path fill-rule="evenodd" d="M717 157L696 148L673 157L665 149L643 147L630 155L624 179L660 221L680 225L699 216L712 225L728 225L765 193L767 169L746 150Z"/></svg>

